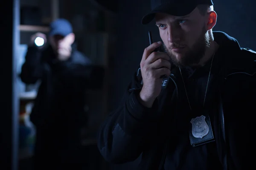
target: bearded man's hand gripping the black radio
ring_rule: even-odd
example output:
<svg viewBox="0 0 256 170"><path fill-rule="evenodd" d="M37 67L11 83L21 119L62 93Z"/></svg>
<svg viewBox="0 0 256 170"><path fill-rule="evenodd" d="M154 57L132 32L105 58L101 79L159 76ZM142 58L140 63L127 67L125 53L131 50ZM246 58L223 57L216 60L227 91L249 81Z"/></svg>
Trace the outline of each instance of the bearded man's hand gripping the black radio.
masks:
<svg viewBox="0 0 256 170"><path fill-rule="evenodd" d="M171 74L171 63L169 56L164 52L153 52L161 45L161 42L154 42L145 48L140 69L143 78L143 88L140 91L139 101L148 108L151 108L154 100L161 92L163 79L162 75Z"/></svg>

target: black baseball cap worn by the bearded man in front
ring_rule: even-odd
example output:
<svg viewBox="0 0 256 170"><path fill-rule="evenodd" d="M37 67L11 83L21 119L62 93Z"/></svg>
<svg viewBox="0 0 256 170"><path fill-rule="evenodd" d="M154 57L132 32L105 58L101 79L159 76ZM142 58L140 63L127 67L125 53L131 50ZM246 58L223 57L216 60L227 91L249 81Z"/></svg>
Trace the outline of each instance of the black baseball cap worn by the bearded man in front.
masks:
<svg viewBox="0 0 256 170"><path fill-rule="evenodd" d="M151 0L151 12L142 18L142 24L150 23L156 13L185 16L201 4L213 5L212 0Z"/></svg>

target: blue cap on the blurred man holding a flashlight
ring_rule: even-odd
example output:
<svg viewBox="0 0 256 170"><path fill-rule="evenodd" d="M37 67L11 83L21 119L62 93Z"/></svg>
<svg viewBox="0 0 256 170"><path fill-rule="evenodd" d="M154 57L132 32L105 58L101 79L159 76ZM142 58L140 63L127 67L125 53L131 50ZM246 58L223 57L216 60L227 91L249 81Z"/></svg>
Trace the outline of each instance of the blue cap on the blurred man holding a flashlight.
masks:
<svg viewBox="0 0 256 170"><path fill-rule="evenodd" d="M62 35L66 37L73 32L71 23L65 19L57 19L50 24L49 35Z"/></svg>

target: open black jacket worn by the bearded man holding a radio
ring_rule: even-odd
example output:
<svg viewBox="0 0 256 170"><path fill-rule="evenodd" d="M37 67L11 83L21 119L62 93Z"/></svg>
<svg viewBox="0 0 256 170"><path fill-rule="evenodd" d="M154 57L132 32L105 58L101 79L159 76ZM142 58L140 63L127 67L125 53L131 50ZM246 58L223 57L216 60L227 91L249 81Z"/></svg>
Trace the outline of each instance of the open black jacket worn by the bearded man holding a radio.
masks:
<svg viewBox="0 0 256 170"><path fill-rule="evenodd" d="M218 115L215 116L215 141L224 169L245 170L254 166L255 142L253 114L256 96L256 54L240 48L233 37L214 32L222 49L219 69ZM175 116L170 103L179 97L175 83L175 68L167 88L162 89L152 108L145 108L137 100L142 88L140 68L125 91L122 104L111 113L98 133L98 147L102 156L112 163L134 161L140 154L138 169L160 170L166 156L167 134L177 134L170 127ZM172 146L175 147L175 146Z"/></svg>

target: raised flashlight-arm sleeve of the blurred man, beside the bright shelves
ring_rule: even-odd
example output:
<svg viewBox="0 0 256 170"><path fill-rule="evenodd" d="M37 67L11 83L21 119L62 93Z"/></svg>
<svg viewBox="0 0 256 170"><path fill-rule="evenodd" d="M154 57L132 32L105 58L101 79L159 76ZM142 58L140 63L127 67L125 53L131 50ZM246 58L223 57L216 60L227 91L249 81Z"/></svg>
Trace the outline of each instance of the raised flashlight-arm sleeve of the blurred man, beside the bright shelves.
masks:
<svg viewBox="0 0 256 170"><path fill-rule="evenodd" d="M42 72L41 51L36 47L28 47L25 62L21 68L21 80L26 84L34 84L41 78Z"/></svg>

